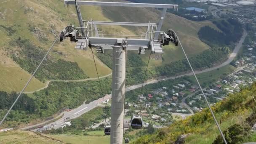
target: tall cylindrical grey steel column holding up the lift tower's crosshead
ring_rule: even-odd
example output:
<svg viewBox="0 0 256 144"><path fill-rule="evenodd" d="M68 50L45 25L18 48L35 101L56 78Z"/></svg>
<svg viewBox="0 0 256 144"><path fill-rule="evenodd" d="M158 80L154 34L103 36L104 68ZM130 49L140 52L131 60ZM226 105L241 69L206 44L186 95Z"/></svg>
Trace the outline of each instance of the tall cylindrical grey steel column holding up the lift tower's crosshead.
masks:
<svg viewBox="0 0 256 144"><path fill-rule="evenodd" d="M113 46L111 144L123 144L126 50Z"/></svg>

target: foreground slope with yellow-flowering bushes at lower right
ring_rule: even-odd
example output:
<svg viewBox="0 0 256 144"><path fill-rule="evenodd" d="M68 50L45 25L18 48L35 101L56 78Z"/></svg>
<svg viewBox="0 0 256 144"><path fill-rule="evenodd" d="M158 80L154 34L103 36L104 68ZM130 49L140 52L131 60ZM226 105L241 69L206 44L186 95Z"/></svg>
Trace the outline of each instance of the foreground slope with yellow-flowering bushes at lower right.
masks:
<svg viewBox="0 0 256 144"><path fill-rule="evenodd" d="M256 133L251 131L256 123L255 91L256 83L250 88L243 88L239 93L230 94L212 107L229 144L256 141ZM181 135L187 136L182 140ZM223 143L210 111L203 109L202 112L160 129L153 135L139 138L135 144L171 144L177 139L186 144Z"/></svg>

